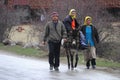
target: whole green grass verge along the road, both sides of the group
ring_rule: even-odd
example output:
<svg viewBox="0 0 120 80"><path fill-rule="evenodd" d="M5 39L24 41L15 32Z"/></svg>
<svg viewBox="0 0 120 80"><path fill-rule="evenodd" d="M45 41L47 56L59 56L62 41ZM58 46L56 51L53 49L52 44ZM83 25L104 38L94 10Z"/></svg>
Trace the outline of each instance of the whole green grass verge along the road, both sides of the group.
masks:
<svg viewBox="0 0 120 80"><path fill-rule="evenodd" d="M36 58L46 58L48 55L47 51L38 50L35 48L22 48L21 46L17 46L17 45L16 46L4 46L1 43L0 43L0 50L12 52L18 55L24 55L24 56L36 57ZM66 60L67 58L65 56L61 57L61 62L66 63L67 62ZM113 61L103 59L103 58L97 58L96 62L97 62L97 66L99 67L120 69L120 63L118 62L113 62ZM79 63L85 65L83 53L79 53Z"/></svg>

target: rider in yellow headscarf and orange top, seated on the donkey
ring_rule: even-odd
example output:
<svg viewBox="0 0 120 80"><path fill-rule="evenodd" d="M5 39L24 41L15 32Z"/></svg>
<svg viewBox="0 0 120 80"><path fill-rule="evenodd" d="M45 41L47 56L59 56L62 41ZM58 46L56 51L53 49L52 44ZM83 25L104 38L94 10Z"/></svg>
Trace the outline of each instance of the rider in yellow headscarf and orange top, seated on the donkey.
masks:
<svg viewBox="0 0 120 80"><path fill-rule="evenodd" d="M79 27L79 23L76 20L76 10L71 9L69 11L69 15L66 16L66 18L63 21L65 28L67 30L67 35L73 36L74 38L77 37L77 29Z"/></svg>

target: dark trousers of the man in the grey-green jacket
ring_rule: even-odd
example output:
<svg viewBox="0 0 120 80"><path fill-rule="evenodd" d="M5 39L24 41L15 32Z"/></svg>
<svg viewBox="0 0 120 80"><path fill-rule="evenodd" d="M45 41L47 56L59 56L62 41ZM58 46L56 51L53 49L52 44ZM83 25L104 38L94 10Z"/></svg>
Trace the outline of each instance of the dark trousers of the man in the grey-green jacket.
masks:
<svg viewBox="0 0 120 80"><path fill-rule="evenodd" d="M49 45L49 64L50 66L59 67L60 63L60 42L48 42Z"/></svg>

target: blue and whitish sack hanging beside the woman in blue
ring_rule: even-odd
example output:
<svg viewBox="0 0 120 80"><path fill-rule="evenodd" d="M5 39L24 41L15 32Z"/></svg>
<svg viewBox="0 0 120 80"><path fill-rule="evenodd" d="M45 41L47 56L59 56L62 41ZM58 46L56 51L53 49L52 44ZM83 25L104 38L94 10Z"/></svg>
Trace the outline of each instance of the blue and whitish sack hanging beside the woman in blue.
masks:
<svg viewBox="0 0 120 80"><path fill-rule="evenodd" d="M87 48L88 48L88 45L86 44L85 36L82 33L82 31L80 31L80 46L79 46L79 49L80 50L85 50Z"/></svg>

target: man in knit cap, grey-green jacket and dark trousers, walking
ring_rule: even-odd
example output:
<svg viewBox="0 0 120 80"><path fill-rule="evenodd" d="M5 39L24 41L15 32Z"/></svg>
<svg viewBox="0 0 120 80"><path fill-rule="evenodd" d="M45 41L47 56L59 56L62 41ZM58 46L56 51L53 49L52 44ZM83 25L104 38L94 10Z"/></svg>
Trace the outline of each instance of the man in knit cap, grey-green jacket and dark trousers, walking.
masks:
<svg viewBox="0 0 120 80"><path fill-rule="evenodd" d="M67 33L64 24L59 20L57 12L51 14L51 21L45 25L45 34L42 44L48 42L50 70L59 70L61 39L66 40Z"/></svg>

